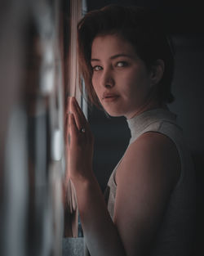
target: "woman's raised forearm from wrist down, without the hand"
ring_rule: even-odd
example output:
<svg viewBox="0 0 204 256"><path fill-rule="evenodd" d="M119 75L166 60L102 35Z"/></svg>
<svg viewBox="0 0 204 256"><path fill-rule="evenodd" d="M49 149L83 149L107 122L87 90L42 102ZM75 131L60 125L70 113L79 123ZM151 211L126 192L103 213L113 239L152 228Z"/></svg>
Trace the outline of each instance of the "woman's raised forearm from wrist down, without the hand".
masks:
<svg viewBox="0 0 204 256"><path fill-rule="evenodd" d="M104 196L95 178L73 181L86 245L91 256L124 256L122 240L110 218Z"/></svg>

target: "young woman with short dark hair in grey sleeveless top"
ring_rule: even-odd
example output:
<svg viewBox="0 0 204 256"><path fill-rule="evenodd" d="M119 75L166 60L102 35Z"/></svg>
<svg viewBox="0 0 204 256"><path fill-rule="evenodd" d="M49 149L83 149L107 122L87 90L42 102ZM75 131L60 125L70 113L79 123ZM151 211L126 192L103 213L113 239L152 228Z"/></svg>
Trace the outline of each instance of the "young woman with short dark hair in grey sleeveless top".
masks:
<svg viewBox="0 0 204 256"><path fill-rule="evenodd" d="M140 7L104 7L78 24L79 62L89 101L125 116L131 141L105 195L92 170L93 136L69 99L69 173L92 255L189 255L194 175L173 101L174 58L162 20Z"/></svg>

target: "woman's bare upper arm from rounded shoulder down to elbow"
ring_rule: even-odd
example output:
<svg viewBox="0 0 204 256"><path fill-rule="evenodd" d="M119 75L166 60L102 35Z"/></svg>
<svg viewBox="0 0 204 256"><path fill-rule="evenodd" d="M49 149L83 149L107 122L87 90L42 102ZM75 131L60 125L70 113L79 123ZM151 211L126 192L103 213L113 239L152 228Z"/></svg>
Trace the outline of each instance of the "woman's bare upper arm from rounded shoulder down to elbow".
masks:
<svg viewBox="0 0 204 256"><path fill-rule="evenodd" d="M114 209L127 255L149 255L179 177L180 157L168 137L147 132L129 146L117 172Z"/></svg>

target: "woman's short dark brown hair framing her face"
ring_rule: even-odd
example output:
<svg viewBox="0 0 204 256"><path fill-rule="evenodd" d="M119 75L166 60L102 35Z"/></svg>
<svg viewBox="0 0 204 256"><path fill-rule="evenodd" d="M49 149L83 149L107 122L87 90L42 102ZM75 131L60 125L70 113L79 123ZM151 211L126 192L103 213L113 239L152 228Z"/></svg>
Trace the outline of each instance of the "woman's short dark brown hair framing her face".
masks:
<svg viewBox="0 0 204 256"><path fill-rule="evenodd" d="M88 100L100 106L91 83L91 45L101 34L118 34L126 39L144 61L147 68L158 59L165 63L162 79L158 83L159 101L171 103L171 82L174 71L174 54L169 39L162 28L162 20L156 11L144 7L111 5L90 11L78 23L79 67L85 81Z"/></svg>

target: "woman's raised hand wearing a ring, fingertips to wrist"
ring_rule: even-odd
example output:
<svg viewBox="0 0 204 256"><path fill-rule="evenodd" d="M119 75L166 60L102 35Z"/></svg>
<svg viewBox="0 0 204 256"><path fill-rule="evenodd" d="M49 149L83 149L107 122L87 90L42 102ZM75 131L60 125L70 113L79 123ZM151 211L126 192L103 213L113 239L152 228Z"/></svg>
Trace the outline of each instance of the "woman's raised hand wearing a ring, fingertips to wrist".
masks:
<svg viewBox="0 0 204 256"><path fill-rule="evenodd" d="M92 175L93 135L75 97L69 98L67 164L69 178L74 182L87 180Z"/></svg>

